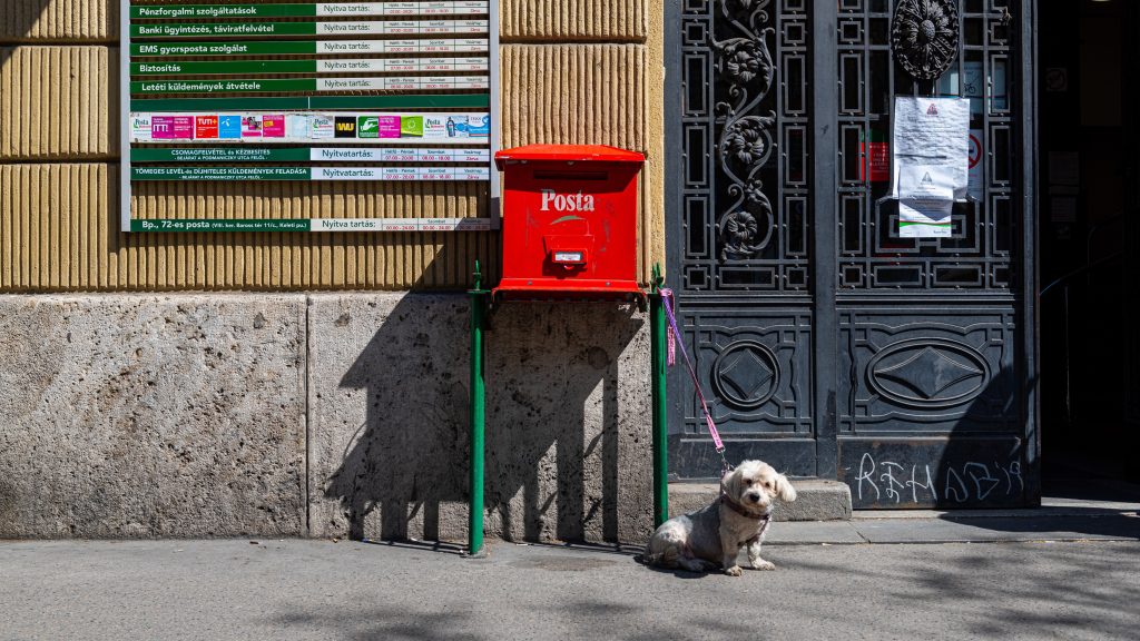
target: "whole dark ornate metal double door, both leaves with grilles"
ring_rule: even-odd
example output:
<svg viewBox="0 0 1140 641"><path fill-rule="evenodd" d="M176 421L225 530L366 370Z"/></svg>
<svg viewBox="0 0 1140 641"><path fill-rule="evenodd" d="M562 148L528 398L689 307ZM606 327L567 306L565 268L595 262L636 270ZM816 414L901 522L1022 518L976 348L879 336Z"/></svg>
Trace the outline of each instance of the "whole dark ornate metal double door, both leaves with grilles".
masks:
<svg viewBox="0 0 1140 641"><path fill-rule="evenodd" d="M681 0L667 19L669 279L730 460L846 480L856 506L1033 501L1032 2ZM896 96L971 100L952 237L899 237ZM670 384L670 471L712 477L692 384Z"/></svg>

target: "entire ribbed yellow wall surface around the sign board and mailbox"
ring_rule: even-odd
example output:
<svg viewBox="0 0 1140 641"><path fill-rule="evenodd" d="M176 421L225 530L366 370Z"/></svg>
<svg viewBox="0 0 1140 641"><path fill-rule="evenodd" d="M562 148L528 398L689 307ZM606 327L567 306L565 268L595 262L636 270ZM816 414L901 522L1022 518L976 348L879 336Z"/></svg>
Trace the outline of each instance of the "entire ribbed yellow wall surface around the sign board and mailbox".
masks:
<svg viewBox="0 0 1140 641"><path fill-rule="evenodd" d="M646 154L643 281L663 260L661 2L503 0L500 14L504 40L548 42L502 48L504 146ZM44 44L0 48L0 291L458 289L475 259L497 278L497 234L120 234L117 49L50 43L116 36L117 3L0 0L9 7L0 42ZM486 206L487 188L462 182L142 182L133 200L140 218L478 217Z"/></svg>

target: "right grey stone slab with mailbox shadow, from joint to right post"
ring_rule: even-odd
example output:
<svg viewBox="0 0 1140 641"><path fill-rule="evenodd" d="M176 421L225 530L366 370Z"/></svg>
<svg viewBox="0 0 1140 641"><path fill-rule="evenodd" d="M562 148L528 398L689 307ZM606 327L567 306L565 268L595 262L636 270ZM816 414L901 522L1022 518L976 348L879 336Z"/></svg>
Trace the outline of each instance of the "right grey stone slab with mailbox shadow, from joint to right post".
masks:
<svg viewBox="0 0 1140 641"><path fill-rule="evenodd" d="M311 297L314 536L466 538L469 325L462 295ZM644 317L612 303L504 305L486 351L488 534L644 541Z"/></svg>

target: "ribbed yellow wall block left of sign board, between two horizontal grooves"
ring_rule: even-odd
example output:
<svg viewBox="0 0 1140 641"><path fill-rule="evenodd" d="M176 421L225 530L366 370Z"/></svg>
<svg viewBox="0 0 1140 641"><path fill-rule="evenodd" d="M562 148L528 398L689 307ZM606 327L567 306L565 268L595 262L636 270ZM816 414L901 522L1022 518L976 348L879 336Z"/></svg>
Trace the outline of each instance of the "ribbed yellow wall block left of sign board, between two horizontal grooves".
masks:
<svg viewBox="0 0 1140 641"><path fill-rule="evenodd" d="M0 48L0 161L116 155L119 83L108 68L117 57L107 47Z"/></svg>

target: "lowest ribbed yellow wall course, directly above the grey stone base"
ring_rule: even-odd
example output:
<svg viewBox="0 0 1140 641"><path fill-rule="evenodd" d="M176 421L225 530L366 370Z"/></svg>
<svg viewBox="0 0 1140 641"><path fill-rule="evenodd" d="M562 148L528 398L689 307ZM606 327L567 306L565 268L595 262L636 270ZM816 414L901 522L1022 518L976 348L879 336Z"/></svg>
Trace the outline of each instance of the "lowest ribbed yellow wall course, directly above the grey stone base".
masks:
<svg viewBox="0 0 1140 641"><path fill-rule="evenodd" d="M473 261L498 253L496 234L121 234L119 168L103 163L0 165L0 291L461 289ZM477 217L473 182L153 182L136 208L153 216Z"/></svg>

